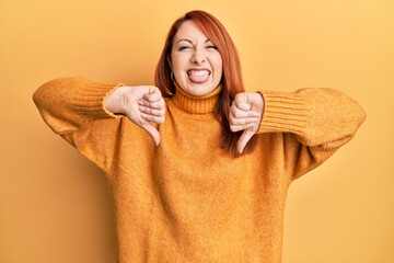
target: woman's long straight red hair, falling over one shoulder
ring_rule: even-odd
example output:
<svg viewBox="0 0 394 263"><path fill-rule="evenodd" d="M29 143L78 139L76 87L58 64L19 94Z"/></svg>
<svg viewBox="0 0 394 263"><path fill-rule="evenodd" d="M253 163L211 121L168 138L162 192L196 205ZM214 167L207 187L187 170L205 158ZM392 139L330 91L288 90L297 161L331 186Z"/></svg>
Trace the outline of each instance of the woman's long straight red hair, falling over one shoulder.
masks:
<svg viewBox="0 0 394 263"><path fill-rule="evenodd" d="M187 12L173 23L155 69L154 83L161 90L163 96L172 96L175 93L175 85L171 79L171 67L167 58L171 56L174 36L185 21L193 21L209 41L217 46L221 55L223 64L222 90L215 114L222 124L220 147L231 155L237 156L236 144L242 132L233 133L230 130L229 113L234 96L240 92L244 92L241 62L234 43L218 19L205 11L195 10ZM255 137L252 137L243 152L251 152L254 147Z"/></svg>

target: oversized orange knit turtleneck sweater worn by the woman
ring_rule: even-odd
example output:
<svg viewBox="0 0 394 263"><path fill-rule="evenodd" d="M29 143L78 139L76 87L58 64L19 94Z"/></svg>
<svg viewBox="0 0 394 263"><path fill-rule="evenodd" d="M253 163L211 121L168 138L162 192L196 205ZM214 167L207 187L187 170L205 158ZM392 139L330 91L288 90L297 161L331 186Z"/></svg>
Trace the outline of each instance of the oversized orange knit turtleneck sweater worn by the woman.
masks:
<svg viewBox="0 0 394 263"><path fill-rule="evenodd" d="M260 91L257 146L235 158L219 147L218 89L165 99L155 146L126 116L105 110L116 87L57 79L34 101L50 128L107 175L120 263L281 262L290 183L349 141L366 116L333 89Z"/></svg>

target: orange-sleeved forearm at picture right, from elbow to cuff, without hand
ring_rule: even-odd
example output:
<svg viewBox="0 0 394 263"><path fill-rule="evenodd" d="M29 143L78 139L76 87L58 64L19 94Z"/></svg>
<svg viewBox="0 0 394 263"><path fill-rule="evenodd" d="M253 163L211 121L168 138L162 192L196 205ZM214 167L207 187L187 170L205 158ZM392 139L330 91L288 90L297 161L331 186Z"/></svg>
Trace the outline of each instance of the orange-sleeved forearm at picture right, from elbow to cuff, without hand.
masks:
<svg viewBox="0 0 394 263"><path fill-rule="evenodd" d="M366 118L357 102L334 89L262 93L265 113L259 133L293 133L300 142L311 147L327 148L352 137Z"/></svg>

